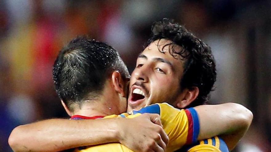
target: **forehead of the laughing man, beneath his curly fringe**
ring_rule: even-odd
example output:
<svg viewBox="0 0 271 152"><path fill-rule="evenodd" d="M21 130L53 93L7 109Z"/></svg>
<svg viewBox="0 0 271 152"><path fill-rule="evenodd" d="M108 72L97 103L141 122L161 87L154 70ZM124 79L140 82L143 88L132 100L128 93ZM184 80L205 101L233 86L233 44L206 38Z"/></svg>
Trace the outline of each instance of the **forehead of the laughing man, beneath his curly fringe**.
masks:
<svg viewBox="0 0 271 152"><path fill-rule="evenodd" d="M181 60L178 54L174 54L172 56L172 49L176 52L179 52L182 48L179 45L172 45L172 41L160 39L152 42L148 45L143 52L142 55L147 57L147 60L152 60L154 58L162 58L164 60L169 61L175 68L183 68L184 60Z"/></svg>

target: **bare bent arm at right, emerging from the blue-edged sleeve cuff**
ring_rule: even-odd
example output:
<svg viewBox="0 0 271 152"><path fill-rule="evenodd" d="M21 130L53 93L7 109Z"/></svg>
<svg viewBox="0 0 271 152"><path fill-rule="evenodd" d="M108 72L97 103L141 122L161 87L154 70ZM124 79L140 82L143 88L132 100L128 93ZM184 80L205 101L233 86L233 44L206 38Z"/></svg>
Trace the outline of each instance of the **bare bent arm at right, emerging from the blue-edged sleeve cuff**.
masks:
<svg viewBox="0 0 271 152"><path fill-rule="evenodd" d="M200 120L198 140L220 135L232 150L248 130L253 114L237 103L195 107Z"/></svg>

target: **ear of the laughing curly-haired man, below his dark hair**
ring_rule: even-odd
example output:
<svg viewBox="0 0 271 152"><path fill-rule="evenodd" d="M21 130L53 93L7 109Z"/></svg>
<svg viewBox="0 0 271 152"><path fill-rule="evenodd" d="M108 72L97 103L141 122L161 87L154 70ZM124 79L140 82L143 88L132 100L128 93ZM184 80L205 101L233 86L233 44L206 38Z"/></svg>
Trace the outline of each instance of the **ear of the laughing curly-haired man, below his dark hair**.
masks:
<svg viewBox="0 0 271 152"><path fill-rule="evenodd" d="M191 104L199 95L199 88L192 87L191 89L184 89L180 97L182 99L177 100L176 107L183 109Z"/></svg>

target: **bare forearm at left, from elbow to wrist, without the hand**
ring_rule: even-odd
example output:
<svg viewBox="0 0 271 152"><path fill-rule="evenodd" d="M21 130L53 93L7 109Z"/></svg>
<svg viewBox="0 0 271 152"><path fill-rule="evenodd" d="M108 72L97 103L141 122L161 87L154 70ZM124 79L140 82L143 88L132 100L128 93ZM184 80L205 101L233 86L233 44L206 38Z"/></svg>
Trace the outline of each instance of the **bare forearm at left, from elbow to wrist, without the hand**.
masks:
<svg viewBox="0 0 271 152"><path fill-rule="evenodd" d="M103 141L116 142L117 130L114 120L116 119L43 120L14 128L8 142L15 152L61 151Z"/></svg>

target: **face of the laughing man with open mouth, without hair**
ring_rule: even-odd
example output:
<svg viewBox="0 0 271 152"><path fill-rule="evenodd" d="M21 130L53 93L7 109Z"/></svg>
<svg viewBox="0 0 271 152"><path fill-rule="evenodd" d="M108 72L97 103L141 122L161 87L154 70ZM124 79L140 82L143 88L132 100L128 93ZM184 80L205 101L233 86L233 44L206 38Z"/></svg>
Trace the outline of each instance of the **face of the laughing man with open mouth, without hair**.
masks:
<svg viewBox="0 0 271 152"><path fill-rule="evenodd" d="M180 78L183 75L184 63L180 57L173 57L169 53L173 45L167 44L171 42L165 39L156 40L137 58L136 68L131 74L128 112L152 103L168 102L175 106L174 102L183 97L180 92ZM181 47L175 45L174 49L180 50Z"/></svg>

